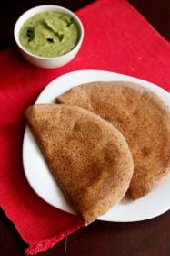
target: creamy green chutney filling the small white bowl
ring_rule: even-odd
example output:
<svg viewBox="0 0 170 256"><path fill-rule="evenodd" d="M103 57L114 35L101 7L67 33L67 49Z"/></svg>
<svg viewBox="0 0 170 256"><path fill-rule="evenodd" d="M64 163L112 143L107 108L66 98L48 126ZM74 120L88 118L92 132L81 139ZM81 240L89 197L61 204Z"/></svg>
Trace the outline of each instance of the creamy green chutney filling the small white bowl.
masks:
<svg viewBox="0 0 170 256"><path fill-rule="evenodd" d="M46 11L26 20L19 37L27 51L42 57L56 57L75 48L79 29L71 16Z"/></svg>

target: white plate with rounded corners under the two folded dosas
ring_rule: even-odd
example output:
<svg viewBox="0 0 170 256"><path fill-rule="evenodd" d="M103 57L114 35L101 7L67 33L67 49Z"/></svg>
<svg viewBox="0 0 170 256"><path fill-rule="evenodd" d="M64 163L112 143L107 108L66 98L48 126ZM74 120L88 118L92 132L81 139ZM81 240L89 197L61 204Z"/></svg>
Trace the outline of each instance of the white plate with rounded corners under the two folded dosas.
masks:
<svg viewBox="0 0 170 256"><path fill-rule="evenodd" d="M65 93L65 91L91 81L109 81L123 80L138 83L156 94L165 104L170 106L170 94L164 89L145 80L139 80L130 76L117 74L103 70L80 70L67 73L50 82L42 91L35 103L55 103L55 98ZM25 129L23 143L23 163L25 176L35 193L43 198L47 203L55 208L66 212L74 213L73 209L67 204L65 197L57 186L54 177L51 175L44 156L35 142L33 134L29 128ZM170 176L162 182L151 193L137 200L131 200L126 197L111 208L105 215L99 219L117 222L138 221L154 218L168 209L170 209Z"/></svg>

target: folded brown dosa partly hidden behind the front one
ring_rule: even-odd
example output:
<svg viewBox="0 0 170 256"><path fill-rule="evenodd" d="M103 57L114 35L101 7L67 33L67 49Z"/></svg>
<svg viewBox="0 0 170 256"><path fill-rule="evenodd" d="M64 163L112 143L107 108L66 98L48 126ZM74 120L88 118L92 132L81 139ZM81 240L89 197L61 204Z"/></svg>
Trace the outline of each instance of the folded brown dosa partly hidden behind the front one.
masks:
<svg viewBox="0 0 170 256"><path fill-rule="evenodd" d="M73 88L56 102L95 112L125 135L135 171L133 198L143 197L170 172L170 114L153 91L129 82L92 82Z"/></svg>

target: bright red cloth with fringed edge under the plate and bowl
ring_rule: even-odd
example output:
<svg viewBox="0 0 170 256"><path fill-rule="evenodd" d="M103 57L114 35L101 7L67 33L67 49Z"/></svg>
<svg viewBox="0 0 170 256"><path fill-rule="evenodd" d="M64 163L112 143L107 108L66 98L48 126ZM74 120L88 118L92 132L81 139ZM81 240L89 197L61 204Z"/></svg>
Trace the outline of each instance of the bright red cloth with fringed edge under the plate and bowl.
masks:
<svg viewBox="0 0 170 256"><path fill-rule="evenodd" d="M35 68L15 47L0 53L0 203L28 243L27 254L45 251L83 223L46 204L25 180L25 108L51 80L76 69L111 70L170 90L170 45L125 0L96 1L77 15L85 40L76 58L63 68Z"/></svg>

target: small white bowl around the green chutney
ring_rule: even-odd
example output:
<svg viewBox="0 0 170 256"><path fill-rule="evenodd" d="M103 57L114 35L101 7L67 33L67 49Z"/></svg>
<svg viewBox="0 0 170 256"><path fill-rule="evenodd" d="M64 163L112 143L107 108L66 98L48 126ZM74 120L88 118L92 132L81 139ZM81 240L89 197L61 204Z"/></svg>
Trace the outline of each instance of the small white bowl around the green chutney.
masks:
<svg viewBox="0 0 170 256"><path fill-rule="evenodd" d="M31 16L34 16L35 14L44 12L44 11L56 11L56 12L65 13L66 15L71 16L75 20L75 24L79 29L79 40L75 45L75 48L73 48L68 53L65 53L64 55L61 55L59 57L40 57L33 53L30 53L21 45L21 42L19 39L19 32L21 27L25 23L25 21ZM75 58L75 55L77 54L77 52L79 51L82 45L82 41L84 38L84 27L80 19L73 12L66 9L65 7L62 7L59 5L40 5L40 6L36 6L34 8L29 9L17 19L15 23L15 28L14 28L14 36L15 36L16 45L26 60L28 60L31 64L40 68L54 69L54 68L59 68L61 66L64 66L69 61Z"/></svg>

